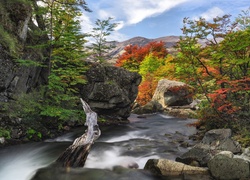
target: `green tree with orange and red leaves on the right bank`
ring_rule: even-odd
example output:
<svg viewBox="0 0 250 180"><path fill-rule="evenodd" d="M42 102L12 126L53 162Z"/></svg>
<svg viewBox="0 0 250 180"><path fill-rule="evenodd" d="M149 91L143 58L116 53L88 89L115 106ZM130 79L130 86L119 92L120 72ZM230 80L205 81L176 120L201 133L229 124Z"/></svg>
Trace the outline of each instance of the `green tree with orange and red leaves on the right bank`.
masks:
<svg viewBox="0 0 250 180"><path fill-rule="evenodd" d="M232 120L249 119L250 31L238 28L240 19L230 18L224 15L212 22L185 18L184 36L177 46L176 74L206 96L200 118L209 128L232 128L232 122L239 122Z"/></svg>

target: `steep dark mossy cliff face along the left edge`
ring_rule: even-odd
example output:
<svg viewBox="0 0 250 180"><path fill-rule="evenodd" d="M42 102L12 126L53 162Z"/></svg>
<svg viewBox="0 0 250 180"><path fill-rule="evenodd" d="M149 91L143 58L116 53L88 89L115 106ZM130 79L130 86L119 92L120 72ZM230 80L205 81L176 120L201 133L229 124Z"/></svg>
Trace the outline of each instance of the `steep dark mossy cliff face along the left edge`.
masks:
<svg viewBox="0 0 250 180"><path fill-rule="evenodd" d="M42 51L27 48L47 40L46 37L38 37L32 34L33 31L29 31L42 31L32 22L31 4L1 1L0 9L0 101L3 102L47 82L48 69L41 66L20 66L16 59L46 64L44 56L48 52L46 49Z"/></svg>

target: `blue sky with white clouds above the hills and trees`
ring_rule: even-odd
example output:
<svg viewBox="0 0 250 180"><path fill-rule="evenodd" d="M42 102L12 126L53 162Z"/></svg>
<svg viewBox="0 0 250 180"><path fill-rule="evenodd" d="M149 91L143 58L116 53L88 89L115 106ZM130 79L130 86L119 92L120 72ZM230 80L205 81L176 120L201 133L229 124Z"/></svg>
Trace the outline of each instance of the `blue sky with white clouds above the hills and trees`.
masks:
<svg viewBox="0 0 250 180"><path fill-rule="evenodd" d="M110 40L124 41L136 36L158 38L181 35L184 17L191 19L231 14L238 16L250 7L249 0L86 0L93 11L84 12L82 27L90 32L96 19L112 17L119 23ZM234 19L234 18L233 18Z"/></svg>

